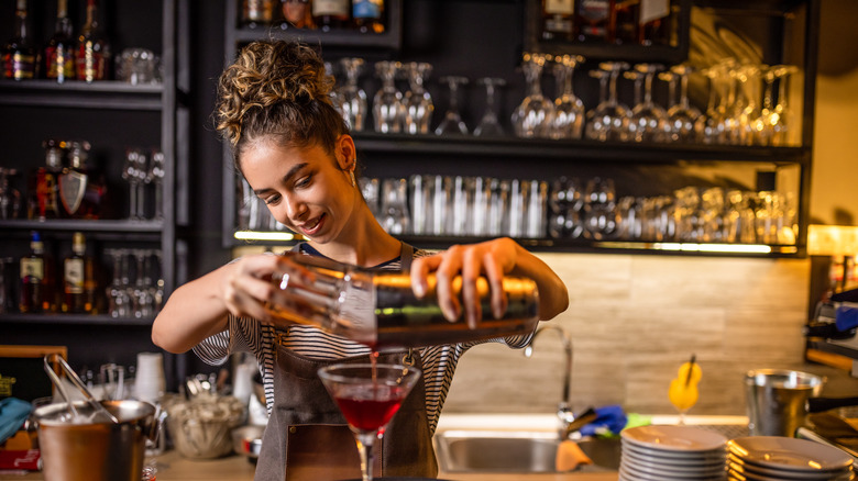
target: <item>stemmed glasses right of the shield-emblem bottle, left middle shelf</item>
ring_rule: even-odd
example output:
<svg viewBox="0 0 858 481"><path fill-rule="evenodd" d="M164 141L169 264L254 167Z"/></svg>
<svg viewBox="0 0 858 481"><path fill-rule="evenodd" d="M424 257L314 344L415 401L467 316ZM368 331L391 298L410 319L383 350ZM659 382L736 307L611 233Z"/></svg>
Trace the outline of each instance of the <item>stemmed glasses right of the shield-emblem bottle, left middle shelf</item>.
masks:
<svg viewBox="0 0 858 481"><path fill-rule="evenodd" d="M128 219L132 221L164 219L165 172L164 153L161 150L147 150L139 147L125 149L122 179L129 184ZM148 195L154 195L154 200L150 200ZM154 210L147 214L146 205L150 203L154 203Z"/></svg>

